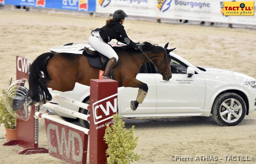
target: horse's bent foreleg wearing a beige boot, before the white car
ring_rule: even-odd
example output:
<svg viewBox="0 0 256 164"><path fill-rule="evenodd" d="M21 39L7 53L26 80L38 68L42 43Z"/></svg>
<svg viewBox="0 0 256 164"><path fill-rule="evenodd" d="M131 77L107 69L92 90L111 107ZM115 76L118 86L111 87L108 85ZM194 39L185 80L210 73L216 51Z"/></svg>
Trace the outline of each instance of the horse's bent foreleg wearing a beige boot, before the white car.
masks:
<svg viewBox="0 0 256 164"><path fill-rule="evenodd" d="M130 82L127 82L127 83L124 82L123 86L139 88L136 100L131 101L131 109L135 111L138 108L139 104L143 103L148 93L148 85L144 82L137 80L136 78L133 78Z"/></svg>

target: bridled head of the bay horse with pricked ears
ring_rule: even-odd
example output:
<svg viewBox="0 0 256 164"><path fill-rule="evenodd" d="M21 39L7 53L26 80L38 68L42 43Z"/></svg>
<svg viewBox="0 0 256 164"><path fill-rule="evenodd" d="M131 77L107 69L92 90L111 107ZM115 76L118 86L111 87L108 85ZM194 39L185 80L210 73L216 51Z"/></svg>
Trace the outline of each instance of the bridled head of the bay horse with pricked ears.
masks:
<svg viewBox="0 0 256 164"><path fill-rule="evenodd" d="M169 43L166 43L164 47L157 46L159 51L156 51L155 54L157 55L153 55L153 58L151 58L153 64L157 67L159 74L161 74L163 80L166 81L169 81L172 78L170 52L176 49L167 49L168 44Z"/></svg>

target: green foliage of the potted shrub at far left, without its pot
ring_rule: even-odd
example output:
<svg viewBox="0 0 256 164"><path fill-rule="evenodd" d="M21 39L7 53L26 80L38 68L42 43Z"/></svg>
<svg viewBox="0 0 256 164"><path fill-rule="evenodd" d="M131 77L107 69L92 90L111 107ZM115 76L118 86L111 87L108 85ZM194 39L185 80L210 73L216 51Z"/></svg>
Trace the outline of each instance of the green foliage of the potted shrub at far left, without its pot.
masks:
<svg viewBox="0 0 256 164"><path fill-rule="evenodd" d="M4 124L5 128L15 129L16 128L16 118L14 118L6 109L4 104L4 93L0 97L0 123Z"/></svg>

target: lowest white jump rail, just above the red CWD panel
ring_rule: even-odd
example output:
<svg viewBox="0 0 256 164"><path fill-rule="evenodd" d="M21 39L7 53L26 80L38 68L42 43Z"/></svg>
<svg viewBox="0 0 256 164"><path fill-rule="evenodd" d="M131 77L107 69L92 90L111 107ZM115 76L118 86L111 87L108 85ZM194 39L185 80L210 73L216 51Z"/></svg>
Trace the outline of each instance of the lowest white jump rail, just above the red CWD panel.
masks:
<svg viewBox="0 0 256 164"><path fill-rule="evenodd" d="M48 120L55 121L55 122L58 122L60 124L66 125L68 127L71 127L71 128L74 128L74 129L77 129L77 130L80 130L80 131L83 131L87 135L89 134L89 129L86 129L86 128L83 128L81 126L69 123L67 121L63 121L63 120L57 119L55 117L49 116L48 114L43 114L43 113L40 113L40 112L35 112L35 116L36 117L40 117L40 118L46 118Z"/></svg>

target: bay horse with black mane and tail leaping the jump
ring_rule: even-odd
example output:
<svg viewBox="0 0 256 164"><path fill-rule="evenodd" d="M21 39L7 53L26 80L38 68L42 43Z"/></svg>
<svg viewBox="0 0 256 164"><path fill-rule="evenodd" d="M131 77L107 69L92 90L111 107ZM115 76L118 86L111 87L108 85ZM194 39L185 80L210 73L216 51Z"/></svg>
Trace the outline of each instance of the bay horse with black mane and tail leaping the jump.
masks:
<svg viewBox="0 0 256 164"><path fill-rule="evenodd" d="M169 53L175 48L168 50L168 44L161 47L144 42L143 51L136 51L128 45L113 47L119 56L119 63L113 69L118 87L139 88L137 99L131 101L132 110L137 109L148 92L148 85L136 79L142 64L152 62L165 81L172 77ZM43 53L29 67L29 105L51 101L52 96L47 88L65 92L73 90L76 82L90 86L90 79L98 79L100 70L92 67L82 54Z"/></svg>

